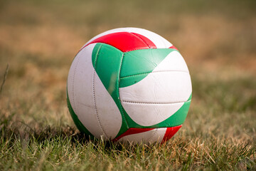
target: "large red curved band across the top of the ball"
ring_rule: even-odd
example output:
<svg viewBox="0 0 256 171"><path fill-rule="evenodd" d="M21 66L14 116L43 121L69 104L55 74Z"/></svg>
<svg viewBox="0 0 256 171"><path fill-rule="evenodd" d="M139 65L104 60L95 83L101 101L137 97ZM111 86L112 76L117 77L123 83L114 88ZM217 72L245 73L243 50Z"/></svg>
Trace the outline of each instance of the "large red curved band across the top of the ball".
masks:
<svg viewBox="0 0 256 171"><path fill-rule="evenodd" d="M155 44L150 41L149 38L146 38L145 36L142 36L138 33L129 32L110 33L105 36L101 36L100 38L96 38L89 44L91 43L106 43L114 46L115 48L118 48L122 52L145 48L156 48Z"/></svg>

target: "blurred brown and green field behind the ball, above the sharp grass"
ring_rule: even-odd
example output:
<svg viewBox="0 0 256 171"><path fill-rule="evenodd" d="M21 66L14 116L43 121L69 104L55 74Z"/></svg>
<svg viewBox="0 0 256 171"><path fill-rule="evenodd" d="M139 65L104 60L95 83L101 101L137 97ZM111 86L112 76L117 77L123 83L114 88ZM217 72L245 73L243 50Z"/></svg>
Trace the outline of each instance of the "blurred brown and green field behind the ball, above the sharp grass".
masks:
<svg viewBox="0 0 256 171"><path fill-rule="evenodd" d="M255 0L0 0L0 117L20 133L75 127L65 102L75 54L126 26L158 33L186 60L193 98L178 136L256 137Z"/></svg>

